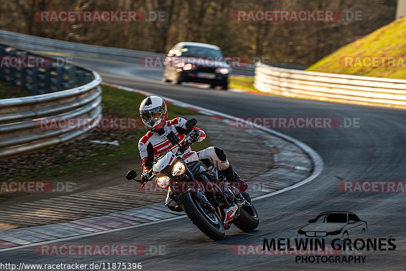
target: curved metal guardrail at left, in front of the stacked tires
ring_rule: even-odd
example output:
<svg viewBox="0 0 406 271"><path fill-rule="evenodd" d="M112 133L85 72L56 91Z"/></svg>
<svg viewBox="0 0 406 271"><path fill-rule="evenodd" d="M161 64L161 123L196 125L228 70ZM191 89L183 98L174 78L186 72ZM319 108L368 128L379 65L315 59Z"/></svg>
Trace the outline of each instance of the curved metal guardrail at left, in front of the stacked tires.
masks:
<svg viewBox="0 0 406 271"><path fill-rule="evenodd" d="M16 50L18 51L18 50ZM22 52L18 52L22 55ZM18 55L16 52L16 55ZM80 68L80 67L60 67L56 70L56 76L60 78L60 82L56 83L60 88L72 87L72 84L77 84L80 80L75 80L74 83L70 82L77 70L81 73L88 74L87 78L82 76L82 83L84 85L77 86L70 89L60 90L52 88L52 77L38 76L36 78L37 85L33 86L32 74L39 74L33 72L39 70L38 68L26 68L26 72L31 74L30 79L22 80L23 77L15 76L20 73L13 69L19 68L0 68L5 79L12 81L20 88L28 87L33 94L45 93L52 90L55 92L18 97L0 99L0 159L16 156L31 151L53 147L60 143L70 141L85 134L91 127L85 126L83 129L46 129L38 127L41 119L52 118L99 118L101 117L101 77L94 71ZM6 70L6 71L4 71ZM8 71L7 71L8 70ZM70 70L74 76L68 77L67 81L63 83L64 73ZM72 73L72 70L75 73ZM57 72L60 72L58 74ZM10 76L10 73L14 76ZM80 75L79 75L80 76ZM14 78L13 78L14 77ZM46 80L49 82L49 89L46 89ZM22 82L26 83L22 83ZM58 91L60 90L60 91Z"/></svg>

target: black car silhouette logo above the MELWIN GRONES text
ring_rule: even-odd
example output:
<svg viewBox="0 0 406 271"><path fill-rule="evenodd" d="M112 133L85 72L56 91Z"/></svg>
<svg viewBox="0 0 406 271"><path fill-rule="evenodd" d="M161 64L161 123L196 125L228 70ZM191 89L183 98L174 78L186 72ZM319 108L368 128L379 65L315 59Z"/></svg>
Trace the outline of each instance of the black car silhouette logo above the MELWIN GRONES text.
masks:
<svg viewBox="0 0 406 271"><path fill-rule="evenodd" d="M309 220L309 224L299 229L298 234L308 237L325 237L328 235L340 235L343 238L349 235L365 233L367 225L365 221L350 212L326 212L321 213L315 219Z"/></svg>

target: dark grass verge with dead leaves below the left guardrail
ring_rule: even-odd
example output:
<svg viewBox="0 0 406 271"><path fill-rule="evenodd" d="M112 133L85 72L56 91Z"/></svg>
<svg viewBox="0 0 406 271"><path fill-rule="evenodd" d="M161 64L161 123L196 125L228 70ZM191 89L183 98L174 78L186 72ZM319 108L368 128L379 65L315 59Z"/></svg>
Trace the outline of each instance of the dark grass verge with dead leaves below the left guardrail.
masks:
<svg viewBox="0 0 406 271"><path fill-rule="evenodd" d="M139 118L138 107L145 96L105 85L101 87L104 117ZM168 104L168 118L196 114L195 111ZM83 176L91 177L89 172L100 174L114 171L120 162L141 161L137 143L146 132L144 127L131 130L94 130L87 138L72 144L3 160L0 164L0 181L91 181ZM90 140L118 140L120 146L92 144ZM210 139L206 138L195 143L192 149L197 151L209 146ZM0 201L16 195L24 194L0 193Z"/></svg>

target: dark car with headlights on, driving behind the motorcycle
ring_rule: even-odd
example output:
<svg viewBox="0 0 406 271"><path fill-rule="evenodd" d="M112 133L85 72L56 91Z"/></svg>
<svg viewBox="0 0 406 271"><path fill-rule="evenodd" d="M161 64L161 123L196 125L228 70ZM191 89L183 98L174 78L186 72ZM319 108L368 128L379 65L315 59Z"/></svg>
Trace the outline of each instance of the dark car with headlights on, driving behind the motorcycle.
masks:
<svg viewBox="0 0 406 271"><path fill-rule="evenodd" d="M181 42L176 44L165 58L162 80L207 83L212 88L228 88L230 66L218 46Z"/></svg>

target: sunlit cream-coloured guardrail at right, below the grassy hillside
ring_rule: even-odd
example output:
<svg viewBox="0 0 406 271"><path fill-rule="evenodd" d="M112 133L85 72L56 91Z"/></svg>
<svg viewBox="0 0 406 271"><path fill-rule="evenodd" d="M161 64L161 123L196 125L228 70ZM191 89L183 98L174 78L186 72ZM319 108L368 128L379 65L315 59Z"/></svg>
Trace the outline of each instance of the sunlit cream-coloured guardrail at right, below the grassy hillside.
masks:
<svg viewBox="0 0 406 271"><path fill-rule="evenodd" d="M258 62L254 87L291 97L406 106L406 80L282 69Z"/></svg>

